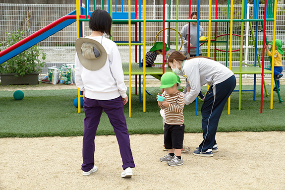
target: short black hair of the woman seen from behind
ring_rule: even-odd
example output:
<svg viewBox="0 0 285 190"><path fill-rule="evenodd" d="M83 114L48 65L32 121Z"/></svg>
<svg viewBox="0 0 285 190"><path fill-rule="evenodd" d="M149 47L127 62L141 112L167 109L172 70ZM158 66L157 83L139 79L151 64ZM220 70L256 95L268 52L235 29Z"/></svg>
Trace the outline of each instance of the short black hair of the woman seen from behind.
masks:
<svg viewBox="0 0 285 190"><path fill-rule="evenodd" d="M89 19L89 28L111 36L112 18L106 10L96 9Z"/></svg>

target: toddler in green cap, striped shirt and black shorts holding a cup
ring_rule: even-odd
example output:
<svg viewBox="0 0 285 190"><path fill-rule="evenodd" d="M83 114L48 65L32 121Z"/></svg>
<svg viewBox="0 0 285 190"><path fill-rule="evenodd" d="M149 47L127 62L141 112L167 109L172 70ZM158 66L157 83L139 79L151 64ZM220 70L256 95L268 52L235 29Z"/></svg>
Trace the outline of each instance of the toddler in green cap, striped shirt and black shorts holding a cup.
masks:
<svg viewBox="0 0 285 190"><path fill-rule="evenodd" d="M184 97L177 89L180 82L173 72L166 72L161 77L161 86L165 92L161 95L164 101L158 100L158 106L165 110L164 144L169 153L160 158L161 162L167 162L169 166L180 166L183 164L181 149L184 138ZM159 96L160 94L158 94ZM157 99L158 99L157 96Z"/></svg>

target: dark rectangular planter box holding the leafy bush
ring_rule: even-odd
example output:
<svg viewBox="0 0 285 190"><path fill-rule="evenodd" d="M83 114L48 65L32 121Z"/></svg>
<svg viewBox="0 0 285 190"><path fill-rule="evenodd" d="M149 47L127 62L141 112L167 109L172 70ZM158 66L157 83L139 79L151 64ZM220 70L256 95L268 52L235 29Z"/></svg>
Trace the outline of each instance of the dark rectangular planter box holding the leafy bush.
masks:
<svg viewBox="0 0 285 190"><path fill-rule="evenodd" d="M10 84L28 84L28 85L36 85L39 84L39 73L33 72L30 74L26 74L24 76L15 76L15 73L9 74L1 74L1 83L2 85L10 85Z"/></svg>

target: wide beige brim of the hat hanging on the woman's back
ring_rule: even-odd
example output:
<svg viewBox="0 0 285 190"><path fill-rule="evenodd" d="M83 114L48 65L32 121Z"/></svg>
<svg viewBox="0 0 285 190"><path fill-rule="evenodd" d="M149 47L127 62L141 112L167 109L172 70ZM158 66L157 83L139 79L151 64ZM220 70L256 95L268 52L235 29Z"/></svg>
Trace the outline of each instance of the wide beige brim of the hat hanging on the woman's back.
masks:
<svg viewBox="0 0 285 190"><path fill-rule="evenodd" d="M81 52L81 46L85 42L95 44L96 46L99 47L101 56L98 59L90 60L90 59L86 59L83 57L82 52ZM90 38L78 38L75 42L75 49L76 49L76 53L77 53L80 63L82 64L82 66L84 66L88 70L99 70L106 63L107 52L102 46L102 44L100 44L96 40L93 40Z"/></svg>

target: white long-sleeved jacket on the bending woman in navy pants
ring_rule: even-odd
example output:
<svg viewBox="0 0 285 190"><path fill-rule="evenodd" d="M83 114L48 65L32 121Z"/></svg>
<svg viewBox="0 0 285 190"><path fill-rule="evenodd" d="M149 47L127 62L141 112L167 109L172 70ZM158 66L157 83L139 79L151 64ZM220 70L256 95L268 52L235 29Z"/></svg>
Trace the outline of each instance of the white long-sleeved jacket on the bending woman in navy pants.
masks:
<svg viewBox="0 0 285 190"><path fill-rule="evenodd" d="M233 75L225 65L207 58L195 58L183 61L180 73L185 76L191 86L189 94L185 97L185 104L192 103L201 91L201 86L209 86L224 82Z"/></svg>

